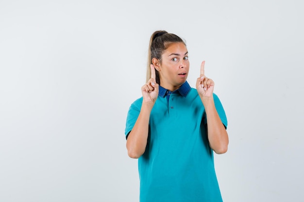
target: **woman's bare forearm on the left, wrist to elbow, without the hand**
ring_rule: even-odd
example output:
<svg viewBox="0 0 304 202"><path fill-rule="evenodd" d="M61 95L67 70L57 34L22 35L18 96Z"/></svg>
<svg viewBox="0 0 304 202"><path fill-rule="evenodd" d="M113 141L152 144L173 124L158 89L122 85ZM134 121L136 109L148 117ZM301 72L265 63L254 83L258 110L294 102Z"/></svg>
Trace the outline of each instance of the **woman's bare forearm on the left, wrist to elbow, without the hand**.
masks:
<svg viewBox="0 0 304 202"><path fill-rule="evenodd" d="M151 104L142 104L135 125L128 135L127 150L131 158L139 158L146 150L152 108Z"/></svg>

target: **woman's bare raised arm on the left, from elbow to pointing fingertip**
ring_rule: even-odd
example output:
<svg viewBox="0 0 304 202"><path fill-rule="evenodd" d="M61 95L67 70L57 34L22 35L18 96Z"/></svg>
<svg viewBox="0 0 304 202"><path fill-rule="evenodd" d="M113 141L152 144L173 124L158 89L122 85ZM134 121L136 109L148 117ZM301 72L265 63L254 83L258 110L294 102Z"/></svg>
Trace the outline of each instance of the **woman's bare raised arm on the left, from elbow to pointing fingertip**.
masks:
<svg viewBox="0 0 304 202"><path fill-rule="evenodd" d="M151 64L151 78L141 87L143 95L142 106L134 127L127 138L128 155L139 158L144 154L149 133L149 120L151 110L158 96L158 84L155 82L155 69Z"/></svg>

